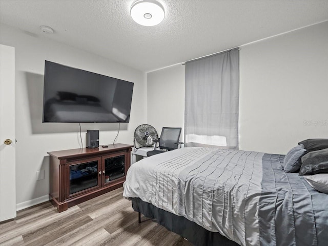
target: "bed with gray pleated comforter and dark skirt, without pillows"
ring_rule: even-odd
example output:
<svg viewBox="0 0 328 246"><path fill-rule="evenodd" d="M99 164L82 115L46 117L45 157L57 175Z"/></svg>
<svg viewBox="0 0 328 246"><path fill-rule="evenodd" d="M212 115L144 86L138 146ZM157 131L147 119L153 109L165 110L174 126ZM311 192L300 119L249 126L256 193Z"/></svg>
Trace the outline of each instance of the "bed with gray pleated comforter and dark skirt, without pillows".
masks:
<svg viewBox="0 0 328 246"><path fill-rule="evenodd" d="M328 195L283 162L279 154L181 148L133 164L123 196L195 245L327 245Z"/></svg>

